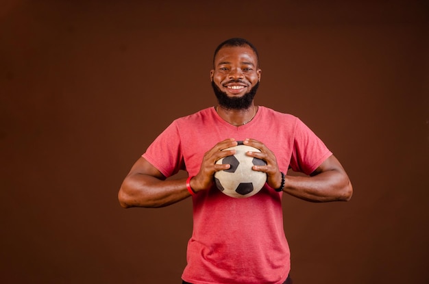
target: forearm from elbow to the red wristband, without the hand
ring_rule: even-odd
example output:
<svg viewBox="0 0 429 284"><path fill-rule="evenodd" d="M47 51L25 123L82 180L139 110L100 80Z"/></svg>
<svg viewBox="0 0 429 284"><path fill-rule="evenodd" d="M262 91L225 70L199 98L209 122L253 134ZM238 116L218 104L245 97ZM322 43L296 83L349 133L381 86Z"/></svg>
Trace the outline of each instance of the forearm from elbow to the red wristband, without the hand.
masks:
<svg viewBox="0 0 429 284"><path fill-rule="evenodd" d="M130 175L119 190L122 207L164 207L190 196L186 179L164 181L144 174Z"/></svg>

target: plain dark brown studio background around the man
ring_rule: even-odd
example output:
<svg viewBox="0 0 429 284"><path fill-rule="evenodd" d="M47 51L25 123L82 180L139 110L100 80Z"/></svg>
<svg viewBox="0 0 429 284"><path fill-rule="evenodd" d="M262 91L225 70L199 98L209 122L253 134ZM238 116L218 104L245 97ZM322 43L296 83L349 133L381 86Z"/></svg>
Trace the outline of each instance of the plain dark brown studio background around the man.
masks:
<svg viewBox="0 0 429 284"><path fill-rule="evenodd" d="M284 196L295 283L429 283L428 34L425 1L1 1L2 281L180 283L191 201L125 210L117 191L215 104L212 52L241 36L256 103L302 118L354 185Z"/></svg>

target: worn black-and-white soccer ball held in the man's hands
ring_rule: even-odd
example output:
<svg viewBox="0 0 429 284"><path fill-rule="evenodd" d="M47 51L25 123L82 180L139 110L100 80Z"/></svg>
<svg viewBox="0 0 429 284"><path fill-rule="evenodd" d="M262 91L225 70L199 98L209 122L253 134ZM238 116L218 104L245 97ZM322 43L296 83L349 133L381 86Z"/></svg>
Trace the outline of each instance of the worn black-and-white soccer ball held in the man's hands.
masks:
<svg viewBox="0 0 429 284"><path fill-rule="evenodd" d="M219 159L216 164L230 164L228 170L215 172L215 184L224 194L244 198L257 194L267 181L265 172L252 170L252 166L265 166L262 159L249 157L247 151L260 152L258 149L238 142L237 146L225 150L234 149L236 152L232 156Z"/></svg>

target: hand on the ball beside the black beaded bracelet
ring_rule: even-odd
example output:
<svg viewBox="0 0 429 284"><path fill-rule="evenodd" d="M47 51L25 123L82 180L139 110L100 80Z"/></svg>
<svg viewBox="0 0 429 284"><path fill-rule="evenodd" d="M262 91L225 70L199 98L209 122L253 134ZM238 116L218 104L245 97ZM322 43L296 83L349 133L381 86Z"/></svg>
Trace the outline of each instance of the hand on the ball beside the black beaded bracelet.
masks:
<svg viewBox="0 0 429 284"><path fill-rule="evenodd" d="M256 157L258 159L264 160L266 166L253 166L252 169L258 172L267 173L267 183L271 188L280 188L282 184L282 173L280 172L277 164L277 159L275 158L274 153L265 146L262 142L254 139L246 139L243 141L243 144L247 146L252 146L260 150L259 152L247 152L246 155L249 157Z"/></svg>

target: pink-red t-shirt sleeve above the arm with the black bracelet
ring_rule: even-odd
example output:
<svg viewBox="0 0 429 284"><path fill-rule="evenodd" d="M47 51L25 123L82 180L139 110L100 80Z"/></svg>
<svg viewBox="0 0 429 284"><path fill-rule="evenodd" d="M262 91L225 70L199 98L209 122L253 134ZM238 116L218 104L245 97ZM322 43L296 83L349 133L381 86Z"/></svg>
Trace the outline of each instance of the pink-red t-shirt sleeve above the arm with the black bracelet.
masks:
<svg viewBox="0 0 429 284"><path fill-rule="evenodd" d="M292 170L310 175L330 155L332 152L322 140L304 122L297 119L291 157Z"/></svg>

